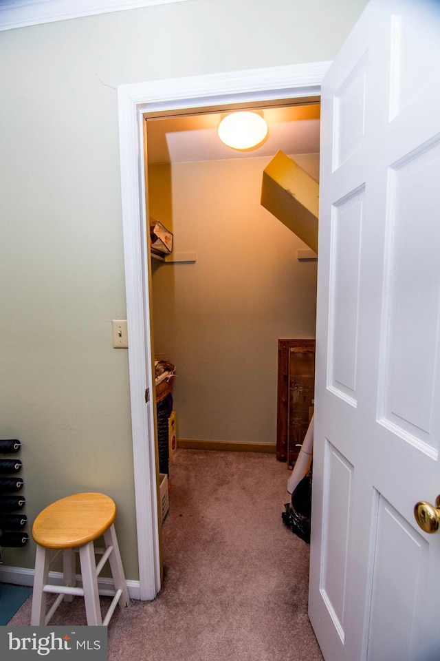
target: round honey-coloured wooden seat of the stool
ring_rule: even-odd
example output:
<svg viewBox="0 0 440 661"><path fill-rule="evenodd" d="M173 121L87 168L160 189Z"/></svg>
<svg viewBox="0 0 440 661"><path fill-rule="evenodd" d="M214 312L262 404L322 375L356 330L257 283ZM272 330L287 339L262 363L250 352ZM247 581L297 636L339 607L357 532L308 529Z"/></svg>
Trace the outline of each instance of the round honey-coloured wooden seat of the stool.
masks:
<svg viewBox="0 0 440 661"><path fill-rule="evenodd" d="M104 494L74 494L48 505L32 525L32 537L47 549L70 549L98 539L111 526L116 505Z"/></svg>

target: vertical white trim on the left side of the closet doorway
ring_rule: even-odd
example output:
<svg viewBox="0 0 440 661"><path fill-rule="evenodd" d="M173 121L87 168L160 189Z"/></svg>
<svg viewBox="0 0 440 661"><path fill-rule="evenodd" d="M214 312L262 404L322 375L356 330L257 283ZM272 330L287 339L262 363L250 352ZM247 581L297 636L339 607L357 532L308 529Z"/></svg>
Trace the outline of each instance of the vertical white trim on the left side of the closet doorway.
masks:
<svg viewBox="0 0 440 661"><path fill-rule="evenodd" d="M140 598L151 600L160 589L160 553L154 411L153 403L145 401L146 389L153 393L153 366L145 257L144 133L142 114L122 89L118 107Z"/></svg>

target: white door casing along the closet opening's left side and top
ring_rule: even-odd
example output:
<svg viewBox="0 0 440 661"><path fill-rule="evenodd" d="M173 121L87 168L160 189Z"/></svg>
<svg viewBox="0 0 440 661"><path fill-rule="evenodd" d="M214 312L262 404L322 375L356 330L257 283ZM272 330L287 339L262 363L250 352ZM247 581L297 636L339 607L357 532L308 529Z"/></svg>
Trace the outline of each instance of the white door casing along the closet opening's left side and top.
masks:
<svg viewBox="0 0 440 661"><path fill-rule="evenodd" d="M141 600L160 589L159 518L153 392L151 324L144 178L143 115L233 103L265 103L319 96L330 62L171 78L118 87L122 224L129 333L129 376L133 437L137 549Z"/></svg>

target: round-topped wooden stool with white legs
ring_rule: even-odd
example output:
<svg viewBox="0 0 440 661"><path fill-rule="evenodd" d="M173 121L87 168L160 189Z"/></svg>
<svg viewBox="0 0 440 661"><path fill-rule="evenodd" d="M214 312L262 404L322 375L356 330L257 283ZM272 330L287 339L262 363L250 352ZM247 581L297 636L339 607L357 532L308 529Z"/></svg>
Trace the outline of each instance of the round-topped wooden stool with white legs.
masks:
<svg viewBox="0 0 440 661"><path fill-rule="evenodd" d="M116 505L104 494L75 494L56 501L40 512L32 525L32 537L36 541L34 593L32 595L31 625L47 625L63 601L73 596L83 596L87 625L109 624L116 605L128 606L129 592L115 534L113 521ZM104 536L105 548L95 549L94 540ZM58 549L51 562L52 549ZM74 550L79 551L83 587L76 587L76 563ZM50 565L63 554L64 585L50 585ZM96 565L95 554L103 554ZM115 583L113 601L102 622L98 593L98 576L109 560ZM58 594L46 613L47 592ZM102 593L104 594L104 593ZM106 593L107 594L107 593Z"/></svg>

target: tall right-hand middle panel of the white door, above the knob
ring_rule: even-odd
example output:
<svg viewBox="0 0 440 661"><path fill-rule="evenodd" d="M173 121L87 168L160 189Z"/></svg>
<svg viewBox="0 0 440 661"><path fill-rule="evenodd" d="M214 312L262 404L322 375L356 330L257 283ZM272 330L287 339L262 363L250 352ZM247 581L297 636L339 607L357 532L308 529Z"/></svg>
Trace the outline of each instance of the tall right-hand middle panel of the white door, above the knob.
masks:
<svg viewBox="0 0 440 661"><path fill-rule="evenodd" d="M391 167L386 255L388 283L384 309L387 344L380 417L399 434L411 434L437 458L432 437L436 387L436 354L440 311L440 224L421 229L421 219L436 204L440 181L440 144L406 155ZM414 346L414 338L422 341ZM418 396L415 397L415 384ZM437 399L438 401L438 399ZM408 439L411 441L411 439Z"/></svg>

